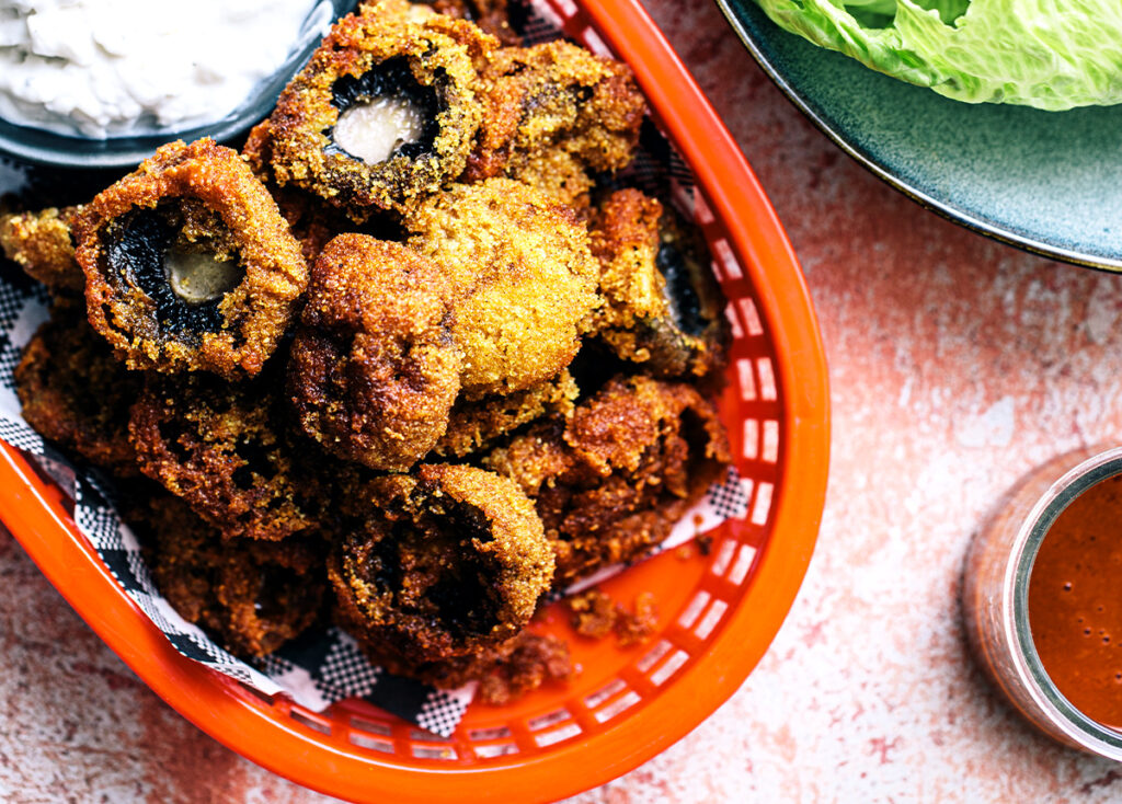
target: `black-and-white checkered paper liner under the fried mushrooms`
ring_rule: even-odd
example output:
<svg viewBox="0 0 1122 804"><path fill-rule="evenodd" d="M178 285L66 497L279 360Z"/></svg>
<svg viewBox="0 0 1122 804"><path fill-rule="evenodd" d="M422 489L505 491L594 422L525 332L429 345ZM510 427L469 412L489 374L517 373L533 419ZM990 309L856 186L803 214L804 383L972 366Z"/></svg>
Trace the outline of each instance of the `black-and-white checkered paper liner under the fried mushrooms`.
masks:
<svg viewBox="0 0 1122 804"><path fill-rule="evenodd" d="M561 18L549 7L534 3L523 11L527 43L548 41L564 33ZM0 193L19 188L24 179L19 167L0 164ZM670 198L683 213L692 213L690 172L650 120L644 123L634 164L614 177L613 183ZM156 590L136 537L114 510L112 482L98 470L72 463L20 415L12 372L24 346L46 318L47 297L43 288L29 283L16 266L4 262L0 270L0 440L31 456L73 499L79 530L175 649L264 695L286 694L315 712L335 701L361 697L422 729L450 737L471 702L473 683L457 690L436 690L394 676L371 665L356 640L334 627L307 634L250 664L220 647L172 608ZM726 480L710 488L706 498L651 555L686 544L725 519L745 517L749 499L751 481L742 481L730 469ZM588 589L623 569L616 565L600 570L555 597Z"/></svg>

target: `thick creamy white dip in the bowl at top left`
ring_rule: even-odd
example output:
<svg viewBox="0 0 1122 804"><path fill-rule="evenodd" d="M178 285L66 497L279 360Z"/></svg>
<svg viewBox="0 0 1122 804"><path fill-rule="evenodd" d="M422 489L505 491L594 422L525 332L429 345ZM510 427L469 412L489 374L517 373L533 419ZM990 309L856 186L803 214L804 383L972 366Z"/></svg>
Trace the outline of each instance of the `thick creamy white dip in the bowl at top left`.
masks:
<svg viewBox="0 0 1122 804"><path fill-rule="evenodd" d="M0 118L99 138L221 120L284 64L314 4L0 0Z"/></svg>

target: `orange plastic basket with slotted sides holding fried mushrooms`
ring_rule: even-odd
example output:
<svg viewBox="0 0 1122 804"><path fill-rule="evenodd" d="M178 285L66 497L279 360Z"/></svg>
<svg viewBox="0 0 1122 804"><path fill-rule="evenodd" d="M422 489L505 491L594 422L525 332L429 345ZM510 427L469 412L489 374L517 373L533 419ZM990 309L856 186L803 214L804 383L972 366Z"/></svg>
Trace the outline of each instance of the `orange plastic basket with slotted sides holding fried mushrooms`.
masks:
<svg viewBox="0 0 1122 804"><path fill-rule="evenodd" d="M471 706L451 739L362 701L310 712L184 658L126 597L76 529L61 491L0 444L0 516L79 614L157 694L249 759L351 800L543 801L607 782L700 723L756 665L794 599L826 491L826 364L798 264L751 168L635 0L555 0L565 30L634 68L655 119L703 194L699 222L730 299L734 343L720 400L748 514L711 548L669 551L604 584L653 592L659 632L628 649L585 641L558 611L580 667L567 685L503 708Z"/></svg>

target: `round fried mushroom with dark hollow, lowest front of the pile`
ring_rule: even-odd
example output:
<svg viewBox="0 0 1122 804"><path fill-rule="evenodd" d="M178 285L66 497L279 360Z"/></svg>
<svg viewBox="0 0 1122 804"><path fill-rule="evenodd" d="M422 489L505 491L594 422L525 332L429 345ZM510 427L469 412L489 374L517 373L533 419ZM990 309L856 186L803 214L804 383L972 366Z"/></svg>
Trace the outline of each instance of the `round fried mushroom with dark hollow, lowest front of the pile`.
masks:
<svg viewBox="0 0 1122 804"><path fill-rule="evenodd" d="M553 575L533 505L507 478L423 464L352 496L329 566L339 621L404 664L478 655L518 634Z"/></svg>

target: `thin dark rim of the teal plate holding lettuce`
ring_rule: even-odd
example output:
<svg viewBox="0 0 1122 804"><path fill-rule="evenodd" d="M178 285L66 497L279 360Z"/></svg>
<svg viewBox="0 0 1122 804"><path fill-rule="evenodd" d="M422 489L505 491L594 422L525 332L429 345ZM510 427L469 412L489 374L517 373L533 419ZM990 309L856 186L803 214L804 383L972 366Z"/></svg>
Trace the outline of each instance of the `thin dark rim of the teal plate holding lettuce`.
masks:
<svg viewBox="0 0 1122 804"><path fill-rule="evenodd" d="M752 2L753 0L746 1ZM787 77L784 77L782 71L772 64L771 59L761 48L760 43L756 41L756 39L748 31L747 27L741 20L735 9L736 0L714 0L714 2L717 3L721 13L725 15L725 18L736 33L737 38L744 45L744 48L752 55L756 64L760 65L767 77L772 80L772 83L779 87L780 92L782 92L787 99L800 112L802 112L811 123L815 124L815 128L833 140L836 146L857 161L858 165L864 167L893 190L904 194L925 210L934 212L951 223L957 223L960 227L965 227L973 232L987 237L991 240L996 240L1005 246L1012 246L1013 248L1021 249L1022 251L1036 255L1037 257L1046 257L1048 259L1068 262L1083 268L1094 268L1096 270L1109 271L1112 274L1122 271L1122 259L1112 259L1110 257L1089 257L1073 249L1066 249L1027 234L1019 234L1011 229L1005 229L977 218L976 215L955 206L950 202L940 201L939 198L925 193L919 187L916 187L904 181L879 160L874 159L859 147L850 142L830 123L826 115L818 111L813 103L803 98L803 95L791 85ZM780 29L779 26L775 27L775 30L781 34L787 33ZM794 36L794 34L790 34L790 36Z"/></svg>

